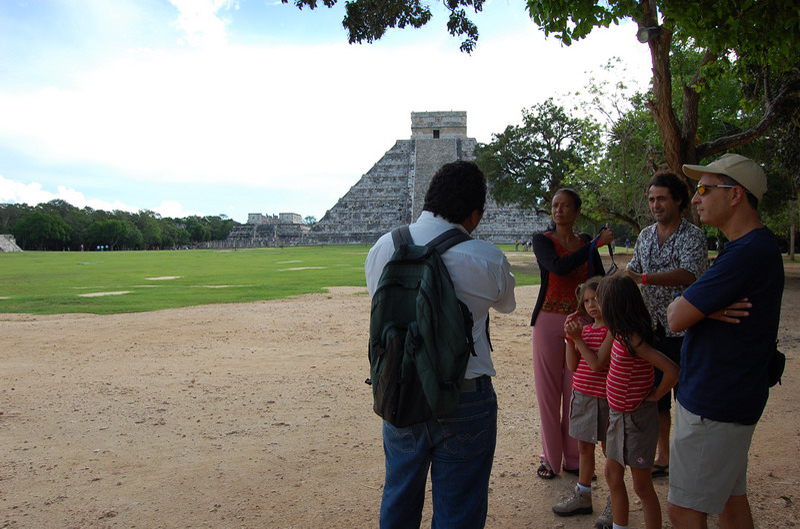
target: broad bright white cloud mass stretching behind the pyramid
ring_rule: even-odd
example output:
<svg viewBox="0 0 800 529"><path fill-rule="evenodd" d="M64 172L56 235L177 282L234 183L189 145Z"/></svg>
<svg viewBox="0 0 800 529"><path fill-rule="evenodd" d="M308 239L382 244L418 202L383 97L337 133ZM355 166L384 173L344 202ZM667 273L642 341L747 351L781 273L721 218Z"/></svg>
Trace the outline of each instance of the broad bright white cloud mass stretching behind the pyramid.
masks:
<svg viewBox="0 0 800 529"><path fill-rule="evenodd" d="M647 47L630 28L598 30L563 48L529 25L481 40L472 56L455 51L458 42L444 31L403 46L233 45L223 13L237 1L170 3L191 46L128 47L76 68L69 82L3 89L0 146L40 165L91 167L136 182L128 187L175 183L189 195L230 183L270 195L300 191L308 203L325 197L331 207L395 140L410 136L412 111L465 110L469 135L489 141L519 122L523 107L582 89L585 72L612 55L649 78ZM16 184L26 192L38 185ZM68 187L50 195L69 193L91 205ZM179 203L159 208L151 207L191 214Z"/></svg>

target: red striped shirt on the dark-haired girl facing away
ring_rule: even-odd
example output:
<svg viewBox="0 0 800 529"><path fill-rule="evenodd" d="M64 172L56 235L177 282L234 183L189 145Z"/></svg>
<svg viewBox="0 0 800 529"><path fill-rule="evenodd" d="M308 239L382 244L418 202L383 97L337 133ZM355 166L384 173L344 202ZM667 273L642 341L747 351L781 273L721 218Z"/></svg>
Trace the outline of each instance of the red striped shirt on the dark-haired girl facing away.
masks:
<svg viewBox="0 0 800 529"><path fill-rule="evenodd" d="M631 355L625 345L615 339L606 379L608 406L622 413L635 410L653 389L653 381L652 364Z"/></svg>

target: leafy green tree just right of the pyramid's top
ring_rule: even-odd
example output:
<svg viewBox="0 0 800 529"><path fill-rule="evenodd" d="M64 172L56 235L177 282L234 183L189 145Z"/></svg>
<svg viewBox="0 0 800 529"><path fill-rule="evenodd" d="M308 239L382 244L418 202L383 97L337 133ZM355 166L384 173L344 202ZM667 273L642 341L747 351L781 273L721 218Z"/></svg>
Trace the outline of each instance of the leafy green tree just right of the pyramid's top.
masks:
<svg viewBox="0 0 800 529"><path fill-rule="evenodd" d="M509 125L479 144L475 156L499 204L549 209L553 194L576 170L598 156L600 129L573 117L552 99L522 111L522 125Z"/></svg>

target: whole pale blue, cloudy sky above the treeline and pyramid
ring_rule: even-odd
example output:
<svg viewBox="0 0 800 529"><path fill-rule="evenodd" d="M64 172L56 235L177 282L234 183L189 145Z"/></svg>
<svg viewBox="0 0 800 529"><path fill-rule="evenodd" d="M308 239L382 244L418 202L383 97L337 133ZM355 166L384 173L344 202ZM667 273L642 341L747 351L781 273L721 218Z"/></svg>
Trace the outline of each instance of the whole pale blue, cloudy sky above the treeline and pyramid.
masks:
<svg viewBox="0 0 800 529"><path fill-rule="evenodd" d="M410 138L411 112L466 111L489 142L523 108L573 104L614 57L650 79L630 23L565 47L523 0L487 0L467 55L440 2L361 45L343 4L0 0L0 203L321 219Z"/></svg>

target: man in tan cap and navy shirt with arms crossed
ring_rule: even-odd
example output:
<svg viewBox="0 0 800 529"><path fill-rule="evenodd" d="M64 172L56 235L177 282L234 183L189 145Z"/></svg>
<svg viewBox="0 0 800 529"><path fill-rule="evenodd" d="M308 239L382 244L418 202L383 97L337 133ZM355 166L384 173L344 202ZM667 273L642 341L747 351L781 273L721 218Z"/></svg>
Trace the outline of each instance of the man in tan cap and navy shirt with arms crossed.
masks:
<svg viewBox="0 0 800 529"><path fill-rule="evenodd" d="M675 527L753 527L747 452L769 397L783 295L777 241L758 217L767 190L752 160L726 154L684 165L697 180L692 204L728 243L714 264L667 309L673 332L686 331L670 450L669 516Z"/></svg>

